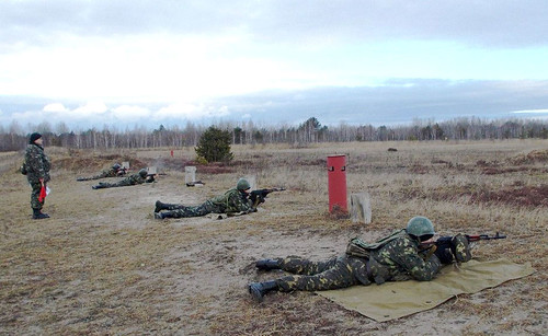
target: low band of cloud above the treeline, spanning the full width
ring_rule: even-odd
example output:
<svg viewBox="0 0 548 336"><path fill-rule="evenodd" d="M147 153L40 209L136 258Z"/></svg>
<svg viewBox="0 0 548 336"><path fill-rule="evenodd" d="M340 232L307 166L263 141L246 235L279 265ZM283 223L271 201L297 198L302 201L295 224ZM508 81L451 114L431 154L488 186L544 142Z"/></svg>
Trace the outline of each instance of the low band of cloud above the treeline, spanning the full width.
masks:
<svg viewBox="0 0 548 336"><path fill-rule="evenodd" d="M0 96L0 123L20 125L64 121L71 129L105 125L158 127L184 121L214 124L222 120L298 125L317 117L322 125L393 125L414 119L447 120L457 117L516 118L548 114L546 81L477 81L393 79L375 86L323 86L306 90L269 90L212 99L196 104L81 105L57 101L27 105L32 99ZM59 113L58 111L67 109Z"/></svg>

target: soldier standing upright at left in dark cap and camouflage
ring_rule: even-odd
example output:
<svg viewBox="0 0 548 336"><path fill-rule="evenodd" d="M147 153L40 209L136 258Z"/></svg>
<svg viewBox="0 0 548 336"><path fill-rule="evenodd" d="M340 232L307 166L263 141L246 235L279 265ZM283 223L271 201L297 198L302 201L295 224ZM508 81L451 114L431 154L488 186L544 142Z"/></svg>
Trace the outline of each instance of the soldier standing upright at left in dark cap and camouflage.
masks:
<svg viewBox="0 0 548 336"><path fill-rule="evenodd" d="M49 181L50 167L49 158L44 152L42 135L32 134L26 147L24 170L26 171L26 179L32 187L31 208L33 209L33 219L49 218L47 213L42 212L45 197L41 197L41 190L46 187Z"/></svg>

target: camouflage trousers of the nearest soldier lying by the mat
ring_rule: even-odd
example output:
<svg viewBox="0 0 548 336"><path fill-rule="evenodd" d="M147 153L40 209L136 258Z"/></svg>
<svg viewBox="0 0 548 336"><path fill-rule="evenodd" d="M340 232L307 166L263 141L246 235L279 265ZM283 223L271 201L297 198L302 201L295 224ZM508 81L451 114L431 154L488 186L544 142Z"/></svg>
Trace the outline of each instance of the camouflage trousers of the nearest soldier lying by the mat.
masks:
<svg viewBox="0 0 548 336"><path fill-rule="evenodd" d="M281 291L316 291L369 285L367 264L364 259L340 256L327 262L310 262L289 256L277 259L281 269L295 274L276 280Z"/></svg>

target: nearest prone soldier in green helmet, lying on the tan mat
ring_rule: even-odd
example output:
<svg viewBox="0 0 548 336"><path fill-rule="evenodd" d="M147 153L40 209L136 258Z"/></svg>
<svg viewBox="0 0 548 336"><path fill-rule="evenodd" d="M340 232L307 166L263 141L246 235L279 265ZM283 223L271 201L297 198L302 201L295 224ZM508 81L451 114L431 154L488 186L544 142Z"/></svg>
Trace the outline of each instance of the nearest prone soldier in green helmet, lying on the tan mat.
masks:
<svg viewBox="0 0 548 336"><path fill-rule="evenodd" d="M311 262L297 256L261 259L258 269L282 269L294 275L265 282L251 282L249 292L256 301L271 291L317 291L346 288L354 285L381 285L385 281L415 279L432 280L442 264L468 262L471 258L468 240L456 235L450 248L435 248L432 245L434 225L425 217L413 217L407 228L386 236L365 248L351 241L347 252L326 262ZM424 248L425 246L432 246ZM362 253L355 253L362 251Z"/></svg>

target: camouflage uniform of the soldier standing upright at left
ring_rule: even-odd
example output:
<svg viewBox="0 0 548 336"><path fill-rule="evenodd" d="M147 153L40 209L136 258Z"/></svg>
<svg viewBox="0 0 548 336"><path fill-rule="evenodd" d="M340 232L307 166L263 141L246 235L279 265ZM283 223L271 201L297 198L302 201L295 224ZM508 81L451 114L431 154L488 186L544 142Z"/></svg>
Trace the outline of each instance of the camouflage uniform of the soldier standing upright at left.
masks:
<svg viewBox="0 0 548 336"><path fill-rule="evenodd" d="M26 169L26 178L28 184L32 187L31 193L31 207L34 210L42 210L44 206L44 199L42 201L38 200L39 192L42 189L41 178L44 179L44 186L50 179L49 177L49 169L52 167L52 163L49 162L49 158L44 152L44 148L36 144L31 143L26 146L25 152L25 169Z"/></svg>

